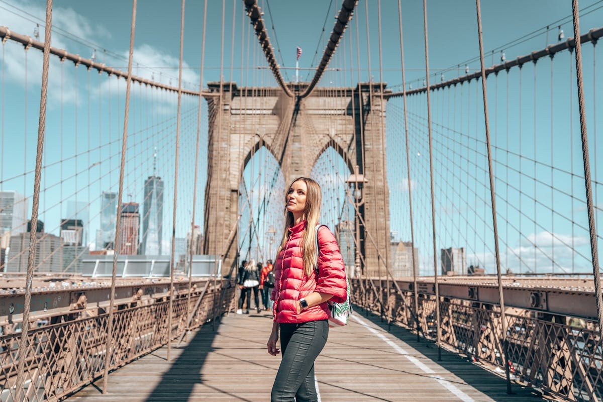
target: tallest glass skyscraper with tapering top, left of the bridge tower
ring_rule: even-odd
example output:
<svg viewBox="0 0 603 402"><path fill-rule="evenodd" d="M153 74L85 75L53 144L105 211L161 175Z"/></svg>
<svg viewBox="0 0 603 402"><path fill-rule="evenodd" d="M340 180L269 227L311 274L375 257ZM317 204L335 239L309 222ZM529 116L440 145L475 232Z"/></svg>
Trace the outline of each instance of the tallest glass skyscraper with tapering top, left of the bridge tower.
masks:
<svg viewBox="0 0 603 402"><path fill-rule="evenodd" d="M144 208L140 250L147 256L159 256L162 252L163 180L154 174L145 180Z"/></svg>

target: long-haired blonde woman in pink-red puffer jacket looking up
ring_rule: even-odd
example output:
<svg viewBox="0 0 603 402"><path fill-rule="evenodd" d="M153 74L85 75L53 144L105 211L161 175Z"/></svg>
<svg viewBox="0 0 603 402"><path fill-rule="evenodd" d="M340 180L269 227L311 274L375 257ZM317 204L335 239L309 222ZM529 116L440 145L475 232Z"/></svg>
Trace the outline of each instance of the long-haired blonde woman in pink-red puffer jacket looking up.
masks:
<svg viewBox="0 0 603 402"><path fill-rule="evenodd" d="M274 265L274 322L268 353L282 360L274 379L272 402L317 401L314 360L329 335L328 300L347 298L346 271L333 233L315 227L320 215L321 190L311 178L292 181L285 196L285 233ZM317 258L318 256L318 258ZM315 265L318 260L318 272Z"/></svg>

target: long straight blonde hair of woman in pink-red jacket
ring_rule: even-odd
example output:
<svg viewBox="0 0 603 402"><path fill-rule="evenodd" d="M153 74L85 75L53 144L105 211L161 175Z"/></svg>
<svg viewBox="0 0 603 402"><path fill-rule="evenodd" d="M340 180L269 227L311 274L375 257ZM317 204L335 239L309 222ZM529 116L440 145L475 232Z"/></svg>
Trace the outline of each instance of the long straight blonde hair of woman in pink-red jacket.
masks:
<svg viewBox="0 0 603 402"><path fill-rule="evenodd" d="M293 213L287 210L287 195L289 189L293 186L295 181L303 181L306 183L308 191L306 192L306 207L303 212L303 219L306 221L306 228L303 233L301 241L301 251L303 253L303 266L306 276L309 276L314 269L316 264L318 250L315 250L314 244L314 228L318 223L320 217L320 204L322 203L323 193L320 189L320 184L308 177L298 177L291 181L289 187L285 191L285 230L283 230L283 237L280 240L279 250L276 255L279 256L280 251L283 250L287 240L289 239L289 228L294 223Z"/></svg>

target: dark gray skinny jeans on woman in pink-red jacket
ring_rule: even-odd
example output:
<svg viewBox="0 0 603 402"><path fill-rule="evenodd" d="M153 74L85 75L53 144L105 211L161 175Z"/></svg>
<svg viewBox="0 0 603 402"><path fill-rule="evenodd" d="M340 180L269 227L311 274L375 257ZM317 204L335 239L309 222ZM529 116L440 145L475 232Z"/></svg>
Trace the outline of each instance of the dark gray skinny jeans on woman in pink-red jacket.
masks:
<svg viewBox="0 0 603 402"><path fill-rule="evenodd" d="M329 336L329 321L280 324L283 359L272 386L271 402L318 401L314 384L314 360Z"/></svg>

